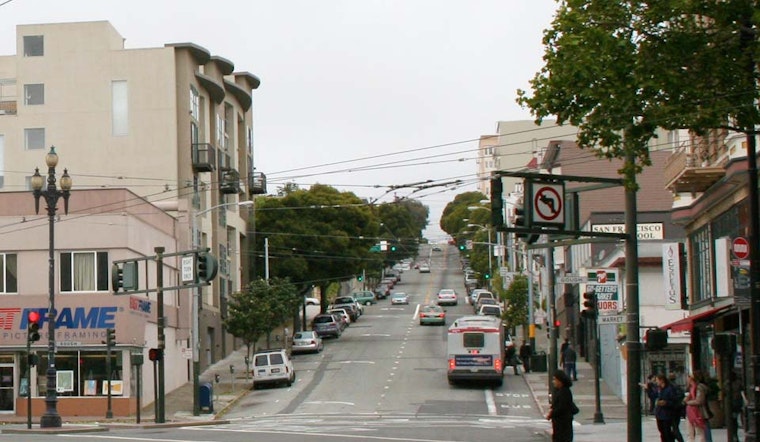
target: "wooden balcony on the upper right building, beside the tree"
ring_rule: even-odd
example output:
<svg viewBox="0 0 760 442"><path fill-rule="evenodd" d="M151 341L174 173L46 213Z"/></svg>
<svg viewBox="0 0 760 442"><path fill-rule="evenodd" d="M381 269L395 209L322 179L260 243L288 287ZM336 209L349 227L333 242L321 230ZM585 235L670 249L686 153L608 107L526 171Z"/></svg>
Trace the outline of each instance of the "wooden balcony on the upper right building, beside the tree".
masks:
<svg viewBox="0 0 760 442"><path fill-rule="evenodd" d="M665 162L665 187L673 193L701 193L726 175L722 164L701 166L699 157L687 149L673 152Z"/></svg>

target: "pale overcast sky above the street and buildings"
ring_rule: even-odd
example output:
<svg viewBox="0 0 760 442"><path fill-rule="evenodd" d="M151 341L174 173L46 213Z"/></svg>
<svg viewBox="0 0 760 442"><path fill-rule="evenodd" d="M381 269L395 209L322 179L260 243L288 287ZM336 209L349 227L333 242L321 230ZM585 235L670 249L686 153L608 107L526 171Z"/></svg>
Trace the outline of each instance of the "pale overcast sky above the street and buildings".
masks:
<svg viewBox="0 0 760 442"><path fill-rule="evenodd" d="M0 0L0 55L18 24L108 20L127 48L193 42L261 79L255 167L285 181L430 207L426 237L475 190L477 142L530 119L515 91L542 65L555 0Z"/></svg>

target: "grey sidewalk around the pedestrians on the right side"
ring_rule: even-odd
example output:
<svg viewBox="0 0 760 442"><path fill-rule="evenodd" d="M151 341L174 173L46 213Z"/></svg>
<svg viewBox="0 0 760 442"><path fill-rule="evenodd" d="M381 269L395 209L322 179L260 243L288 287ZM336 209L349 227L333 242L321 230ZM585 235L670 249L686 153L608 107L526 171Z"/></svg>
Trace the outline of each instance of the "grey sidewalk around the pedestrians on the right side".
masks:
<svg viewBox="0 0 760 442"><path fill-rule="evenodd" d="M605 423L595 424L594 414L596 412L596 394L594 387L594 369L588 362L579 361L577 363L578 380L573 382L573 399L581 410L575 416L574 422L574 440L577 442L595 442L595 441L618 441L627 440L628 437L628 408L623 400L616 396L604 381L600 381L601 389L601 412ZM505 372L505 376L514 376L511 370ZM548 373L528 373L523 375L528 387L530 388L536 405L543 415L546 415L549 409L549 375ZM686 423L681 421L681 433L685 434ZM660 440L660 433L657 431L657 422L654 416L641 416L641 440ZM551 429L546 432L547 439L551 439ZM739 430L740 439L743 438L743 432ZM712 430L712 437L715 441L726 440L726 429L718 428Z"/></svg>

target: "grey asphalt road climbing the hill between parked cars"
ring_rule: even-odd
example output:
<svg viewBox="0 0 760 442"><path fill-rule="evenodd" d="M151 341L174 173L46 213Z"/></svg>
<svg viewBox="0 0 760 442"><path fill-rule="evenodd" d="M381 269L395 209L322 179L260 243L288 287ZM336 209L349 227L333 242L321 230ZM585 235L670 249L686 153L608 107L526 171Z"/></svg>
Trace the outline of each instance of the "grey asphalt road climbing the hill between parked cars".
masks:
<svg viewBox="0 0 760 442"><path fill-rule="evenodd" d="M501 387L449 386L446 327L421 326L419 304L441 288L453 288L460 304L447 307L447 322L472 314L464 302L458 252L423 249L431 272L402 274L394 291L409 305L388 299L365 314L319 354L296 355L291 387L250 391L225 414L229 424L141 432L111 430L80 439L143 441L543 441L543 419L522 376L505 373ZM508 437L507 437L508 436ZM61 436L58 436L60 438ZM35 438L36 439L36 438ZM39 440L39 439L36 439Z"/></svg>

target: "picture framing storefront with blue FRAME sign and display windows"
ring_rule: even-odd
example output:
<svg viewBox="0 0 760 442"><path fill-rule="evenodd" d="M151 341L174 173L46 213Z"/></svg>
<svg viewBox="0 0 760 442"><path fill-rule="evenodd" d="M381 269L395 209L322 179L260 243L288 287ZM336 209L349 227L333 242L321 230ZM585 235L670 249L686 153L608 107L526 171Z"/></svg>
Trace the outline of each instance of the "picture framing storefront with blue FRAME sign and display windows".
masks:
<svg viewBox="0 0 760 442"><path fill-rule="evenodd" d="M85 301L87 305L84 305ZM48 388L47 297L3 299L0 309L0 413L45 413ZM55 389L58 413L65 416L105 415L109 368L111 410L128 416L137 406L136 376L131 354L147 352L146 327L153 311L151 301L131 296L67 295L56 299ZM40 340L27 354L28 314L40 313ZM108 361L106 330L115 330L115 346ZM137 345L139 343L139 345ZM31 364L30 364L31 362Z"/></svg>

